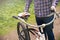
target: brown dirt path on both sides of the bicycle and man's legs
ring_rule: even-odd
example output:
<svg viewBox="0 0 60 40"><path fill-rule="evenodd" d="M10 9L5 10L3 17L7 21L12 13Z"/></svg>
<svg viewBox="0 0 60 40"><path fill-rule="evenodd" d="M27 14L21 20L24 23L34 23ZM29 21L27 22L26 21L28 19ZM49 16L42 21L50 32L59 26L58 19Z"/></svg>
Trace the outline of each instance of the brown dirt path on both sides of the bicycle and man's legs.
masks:
<svg viewBox="0 0 60 40"><path fill-rule="evenodd" d="M58 40L58 37L60 34L60 19L57 19L54 22L54 34L55 34L56 40ZM32 38L33 38L33 36L32 36ZM14 31L10 32L8 35L4 36L3 39L0 39L0 40L18 40L17 31L14 30Z"/></svg>

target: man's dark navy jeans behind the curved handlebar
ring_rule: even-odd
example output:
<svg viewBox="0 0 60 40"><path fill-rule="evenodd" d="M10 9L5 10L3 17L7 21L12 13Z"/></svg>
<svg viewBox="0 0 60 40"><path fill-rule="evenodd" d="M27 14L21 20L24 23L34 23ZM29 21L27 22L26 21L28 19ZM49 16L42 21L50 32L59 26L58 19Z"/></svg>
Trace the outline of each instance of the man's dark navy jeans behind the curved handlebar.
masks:
<svg viewBox="0 0 60 40"><path fill-rule="evenodd" d="M36 17L36 22L37 22L37 25L41 25L43 23L50 22L53 18L54 18L54 16L41 17L41 18ZM40 28L39 28L39 30L40 30ZM43 31L44 31L46 40L47 40L47 36L48 36L48 40L55 40L54 33L53 33L53 23L48 26L45 26L43 28Z"/></svg>

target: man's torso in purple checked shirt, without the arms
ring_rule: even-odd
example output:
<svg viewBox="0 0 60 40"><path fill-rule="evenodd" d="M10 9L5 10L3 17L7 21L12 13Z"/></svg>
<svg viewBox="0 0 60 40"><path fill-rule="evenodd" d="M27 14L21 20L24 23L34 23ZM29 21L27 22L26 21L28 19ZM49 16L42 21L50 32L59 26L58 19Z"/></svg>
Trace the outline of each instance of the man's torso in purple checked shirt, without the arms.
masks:
<svg viewBox="0 0 60 40"><path fill-rule="evenodd" d="M52 0L34 0L35 15L45 17L51 13Z"/></svg>

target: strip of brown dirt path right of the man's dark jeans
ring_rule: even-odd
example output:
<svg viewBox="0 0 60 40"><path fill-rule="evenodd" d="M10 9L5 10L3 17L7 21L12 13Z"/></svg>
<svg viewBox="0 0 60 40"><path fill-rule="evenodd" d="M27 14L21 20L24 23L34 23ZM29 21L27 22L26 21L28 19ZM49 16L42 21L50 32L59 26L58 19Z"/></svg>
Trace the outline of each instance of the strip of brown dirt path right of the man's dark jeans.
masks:
<svg viewBox="0 0 60 40"><path fill-rule="evenodd" d="M58 40L58 37L60 36L60 19L56 19L54 22L54 34L56 40Z"/></svg>

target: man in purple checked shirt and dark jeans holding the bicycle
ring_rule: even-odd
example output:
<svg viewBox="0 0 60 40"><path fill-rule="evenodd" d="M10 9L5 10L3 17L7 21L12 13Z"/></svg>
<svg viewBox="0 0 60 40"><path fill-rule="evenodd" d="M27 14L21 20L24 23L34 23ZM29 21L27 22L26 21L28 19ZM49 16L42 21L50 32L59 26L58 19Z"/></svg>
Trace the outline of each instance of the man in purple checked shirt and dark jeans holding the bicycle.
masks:
<svg viewBox="0 0 60 40"><path fill-rule="evenodd" d="M29 7L31 2L32 0L26 0L25 10L22 14L19 14L18 16L23 17L26 15L30 15ZM47 17L47 15L51 14L51 10L56 11L55 7L57 3L58 0L34 0L34 9L35 9L35 17L36 17L37 25L48 23L53 19L54 15L50 17ZM45 37L47 38L48 36L48 40L55 40L53 34L53 23L44 27L43 30L44 30Z"/></svg>

